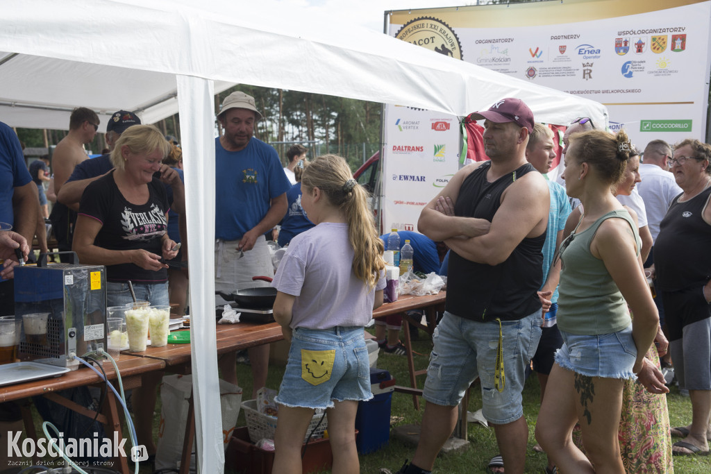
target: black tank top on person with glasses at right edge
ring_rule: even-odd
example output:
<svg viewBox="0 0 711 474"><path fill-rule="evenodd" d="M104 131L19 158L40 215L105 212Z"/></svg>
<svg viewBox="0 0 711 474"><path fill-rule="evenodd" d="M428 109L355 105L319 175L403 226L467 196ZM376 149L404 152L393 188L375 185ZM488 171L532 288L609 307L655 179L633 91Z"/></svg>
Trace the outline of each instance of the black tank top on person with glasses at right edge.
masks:
<svg viewBox="0 0 711 474"><path fill-rule="evenodd" d="M654 269L662 291L705 285L711 279L711 225L703 220L711 188L688 201L678 195L659 223L654 242Z"/></svg>

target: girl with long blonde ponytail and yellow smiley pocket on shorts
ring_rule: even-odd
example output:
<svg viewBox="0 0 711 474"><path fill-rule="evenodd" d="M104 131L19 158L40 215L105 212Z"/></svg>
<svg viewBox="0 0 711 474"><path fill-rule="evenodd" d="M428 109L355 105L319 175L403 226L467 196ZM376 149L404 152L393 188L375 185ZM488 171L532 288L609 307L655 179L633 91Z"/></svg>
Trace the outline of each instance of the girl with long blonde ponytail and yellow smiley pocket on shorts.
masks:
<svg viewBox="0 0 711 474"><path fill-rule="evenodd" d="M301 207L316 227L292 239L272 286L274 318L291 340L279 395L275 473L301 473L314 409L326 409L333 473L358 473L355 412L368 400L363 326L383 303L383 242L368 192L340 156L319 156L301 176Z"/></svg>

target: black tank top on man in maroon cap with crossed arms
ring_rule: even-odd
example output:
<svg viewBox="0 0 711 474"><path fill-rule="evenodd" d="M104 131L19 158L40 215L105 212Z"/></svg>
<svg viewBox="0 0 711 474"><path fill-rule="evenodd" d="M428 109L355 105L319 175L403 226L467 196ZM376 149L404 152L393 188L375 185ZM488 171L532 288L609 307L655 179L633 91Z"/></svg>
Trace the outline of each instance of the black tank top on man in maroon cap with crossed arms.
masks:
<svg viewBox="0 0 711 474"><path fill-rule="evenodd" d="M486 181L491 161L483 163L464 179L454 214L479 217L491 222L501 206L501 194L513 182L535 168L526 163L498 178ZM545 232L526 238L508 259L491 266L471 262L452 251L447 276L447 311L472 321L516 321L540 310L538 289L543 279Z"/></svg>

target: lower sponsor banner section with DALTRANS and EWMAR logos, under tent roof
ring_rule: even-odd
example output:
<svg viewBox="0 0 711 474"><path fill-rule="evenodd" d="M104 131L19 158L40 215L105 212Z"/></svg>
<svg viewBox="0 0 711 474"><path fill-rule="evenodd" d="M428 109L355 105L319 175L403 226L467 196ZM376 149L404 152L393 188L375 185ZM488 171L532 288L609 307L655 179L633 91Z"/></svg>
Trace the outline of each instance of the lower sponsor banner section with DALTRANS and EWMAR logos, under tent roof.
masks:
<svg viewBox="0 0 711 474"><path fill-rule="evenodd" d="M383 124L383 228L417 231L422 208L459 168L459 119L387 105Z"/></svg>

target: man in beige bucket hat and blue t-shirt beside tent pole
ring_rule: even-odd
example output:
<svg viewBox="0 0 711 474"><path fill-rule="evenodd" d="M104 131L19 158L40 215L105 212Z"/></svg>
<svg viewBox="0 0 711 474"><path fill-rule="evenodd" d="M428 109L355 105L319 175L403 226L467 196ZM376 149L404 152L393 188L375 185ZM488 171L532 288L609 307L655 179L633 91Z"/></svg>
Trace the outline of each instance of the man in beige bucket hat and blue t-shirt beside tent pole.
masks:
<svg viewBox="0 0 711 474"><path fill-rule="evenodd" d="M274 276L264 232L287 213L291 184L274 147L254 138L262 114L254 97L232 92L225 97L218 120L225 130L215 139L215 290L269 286L252 276ZM219 296L219 304L225 304ZM254 385L252 397L267 383L269 345L249 350ZM223 379L237 384L235 353L220 357Z"/></svg>

